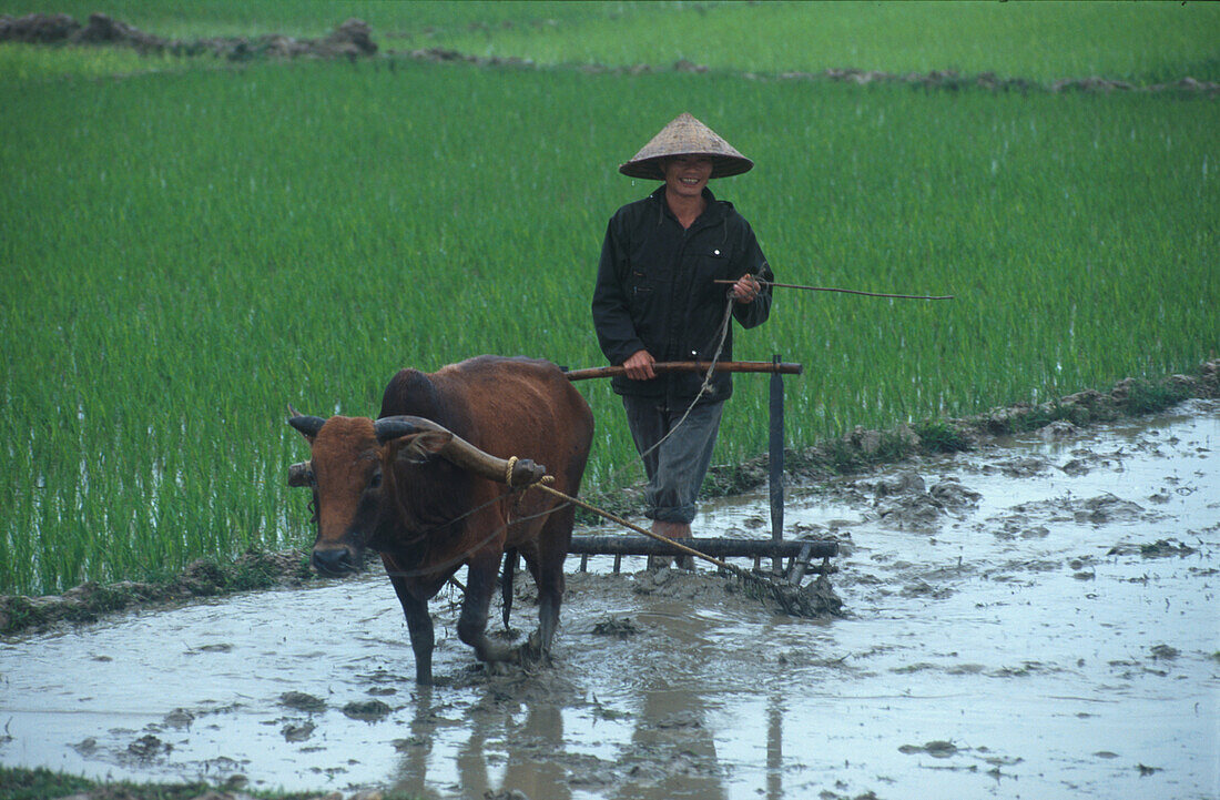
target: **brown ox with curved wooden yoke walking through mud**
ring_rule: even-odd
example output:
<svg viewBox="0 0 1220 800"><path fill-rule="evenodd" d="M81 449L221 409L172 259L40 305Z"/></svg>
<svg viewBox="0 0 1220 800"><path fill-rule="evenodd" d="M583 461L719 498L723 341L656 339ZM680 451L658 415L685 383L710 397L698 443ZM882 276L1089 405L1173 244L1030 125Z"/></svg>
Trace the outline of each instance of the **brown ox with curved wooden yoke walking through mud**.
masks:
<svg viewBox="0 0 1220 800"><path fill-rule="evenodd" d="M547 652L564 595L575 509L522 490L545 465L555 489L576 495L593 438L593 414L554 364L483 355L437 373L406 369L386 387L381 416L294 415L310 442L300 482L314 489L312 562L338 575L381 553L403 603L415 675L432 682L428 600L466 564L458 636L484 662ZM520 457L505 485L506 462ZM539 627L520 649L487 638L500 558L525 556L538 585ZM512 557L515 561L515 556Z"/></svg>

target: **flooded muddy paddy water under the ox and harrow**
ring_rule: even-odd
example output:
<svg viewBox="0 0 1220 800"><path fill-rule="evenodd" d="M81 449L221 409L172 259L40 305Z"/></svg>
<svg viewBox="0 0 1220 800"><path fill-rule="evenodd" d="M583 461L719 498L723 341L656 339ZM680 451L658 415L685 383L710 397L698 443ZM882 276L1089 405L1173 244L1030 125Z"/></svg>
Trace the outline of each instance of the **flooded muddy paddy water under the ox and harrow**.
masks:
<svg viewBox="0 0 1220 800"><path fill-rule="evenodd" d="M426 798L1215 798L1220 403L1052 432L791 491L789 535L845 542L843 619L594 559L537 674L484 674L434 601L421 690L383 576L250 594L0 645L0 762ZM758 496L697 524L765 519Z"/></svg>

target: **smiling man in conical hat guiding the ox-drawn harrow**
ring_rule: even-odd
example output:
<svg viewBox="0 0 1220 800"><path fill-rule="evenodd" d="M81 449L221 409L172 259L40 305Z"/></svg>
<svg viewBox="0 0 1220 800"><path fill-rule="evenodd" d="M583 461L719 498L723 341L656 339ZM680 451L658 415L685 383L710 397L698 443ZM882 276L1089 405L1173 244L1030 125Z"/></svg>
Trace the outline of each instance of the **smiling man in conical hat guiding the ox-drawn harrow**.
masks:
<svg viewBox="0 0 1220 800"><path fill-rule="evenodd" d="M593 293L601 352L626 368L615 377L636 449L644 460L645 515L653 533L689 539L695 500L720 429L732 377L715 373L658 375L658 362L731 360L733 332L766 321L773 280L754 231L708 181L754 162L711 128L682 114L636 156L623 175L664 181L610 219ZM755 280L760 278L762 283ZM716 280L736 281L726 293ZM649 565L664 564L649 559ZM689 565L689 558L683 559Z"/></svg>

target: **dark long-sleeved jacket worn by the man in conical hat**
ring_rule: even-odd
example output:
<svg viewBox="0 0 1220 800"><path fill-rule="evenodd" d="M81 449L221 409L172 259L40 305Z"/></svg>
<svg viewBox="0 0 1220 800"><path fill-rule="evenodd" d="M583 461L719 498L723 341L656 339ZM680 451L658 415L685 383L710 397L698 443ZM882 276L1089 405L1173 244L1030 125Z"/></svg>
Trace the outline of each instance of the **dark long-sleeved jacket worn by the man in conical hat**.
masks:
<svg viewBox="0 0 1220 800"><path fill-rule="evenodd" d="M619 209L606 227L593 292L593 325L598 343L611 364L647 349L658 362L710 360L716 353L730 286L714 280L737 280L750 272L771 281L775 276L749 222L732 203L704 189L708 206L683 230L665 202L665 187ZM753 303L734 303L742 327L766 321L771 287L764 286ZM733 331L720 360L732 360ZM699 393L703 375L670 373L650 381L615 377L620 395L665 397L687 403ZM717 373L712 391L702 402L732 395L732 377Z"/></svg>

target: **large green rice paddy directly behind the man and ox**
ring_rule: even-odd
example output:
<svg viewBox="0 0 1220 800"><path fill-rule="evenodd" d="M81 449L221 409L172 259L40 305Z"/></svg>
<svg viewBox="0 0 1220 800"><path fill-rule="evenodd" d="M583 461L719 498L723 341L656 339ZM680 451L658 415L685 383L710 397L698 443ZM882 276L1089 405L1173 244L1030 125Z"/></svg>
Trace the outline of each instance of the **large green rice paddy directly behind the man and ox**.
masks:
<svg viewBox="0 0 1220 800"><path fill-rule="evenodd" d="M805 365L791 447L1220 346L1204 99L375 61L0 79L0 591L304 544L287 403L372 415L398 369L479 353L601 364L601 236L653 188L615 167L678 110L758 161L712 188L780 280L955 296L781 294L734 355ZM617 398L581 391L589 490L637 480ZM719 462L765 449L765 398L739 376Z"/></svg>

